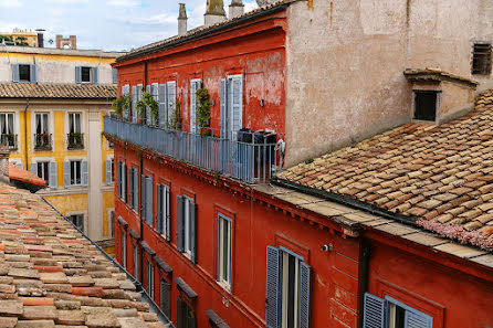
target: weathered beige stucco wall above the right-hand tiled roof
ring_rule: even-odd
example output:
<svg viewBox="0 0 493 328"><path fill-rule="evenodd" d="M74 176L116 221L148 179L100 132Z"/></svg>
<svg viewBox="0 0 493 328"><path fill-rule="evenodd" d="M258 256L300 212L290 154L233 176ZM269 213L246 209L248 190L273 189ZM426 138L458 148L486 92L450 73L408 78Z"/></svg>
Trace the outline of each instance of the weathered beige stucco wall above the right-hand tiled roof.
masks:
<svg viewBox="0 0 493 328"><path fill-rule="evenodd" d="M471 75L471 59L474 42L492 42L492 14L484 0L291 4L286 166L410 121L407 67L489 84L490 76Z"/></svg>

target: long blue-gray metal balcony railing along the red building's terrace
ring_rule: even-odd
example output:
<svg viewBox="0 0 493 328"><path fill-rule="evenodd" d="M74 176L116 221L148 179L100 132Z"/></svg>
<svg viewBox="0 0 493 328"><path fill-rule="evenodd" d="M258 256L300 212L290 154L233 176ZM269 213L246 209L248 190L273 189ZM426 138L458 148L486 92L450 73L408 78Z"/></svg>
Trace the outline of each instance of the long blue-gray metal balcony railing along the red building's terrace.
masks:
<svg viewBox="0 0 493 328"><path fill-rule="evenodd" d="M277 168L274 142L240 142L104 117L107 135L249 183L266 182Z"/></svg>

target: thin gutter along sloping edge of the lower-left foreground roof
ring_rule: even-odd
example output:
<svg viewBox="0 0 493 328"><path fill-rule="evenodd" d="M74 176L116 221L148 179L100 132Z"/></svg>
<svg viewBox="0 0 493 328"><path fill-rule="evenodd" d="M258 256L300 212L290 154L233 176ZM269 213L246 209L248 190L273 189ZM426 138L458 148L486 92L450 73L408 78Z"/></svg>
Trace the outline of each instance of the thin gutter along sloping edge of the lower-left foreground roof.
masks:
<svg viewBox="0 0 493 328"><path fill-rule="evenodd" d="M143 301L147 303L149 305L149 310L157 315L158 321L164 324L166 328L175 328L171 320L161 311L161 309L157 306L157 304L154 301L154 299L147 294L146 289L143 287L143 285L134 278L130 273L128 273L122 265L119 265L118 262L115 261L112 256L109 256L97 243L95 243L92 239L90 239L83 231L78 230L77 226L72 223L65 215L60 213L59 210L56 210L49 201L46 201L44 198L41 198L50 208L52 208L60 216L65 219L66 222L72 224L72 226L78 231L92 245L96 247L97 251L99 251L106 260L113 263L114 266L116 266L120 273L126 274L127 279L129 279L135 287L137 288L136 292L140 293L143 297Z"/></svg>

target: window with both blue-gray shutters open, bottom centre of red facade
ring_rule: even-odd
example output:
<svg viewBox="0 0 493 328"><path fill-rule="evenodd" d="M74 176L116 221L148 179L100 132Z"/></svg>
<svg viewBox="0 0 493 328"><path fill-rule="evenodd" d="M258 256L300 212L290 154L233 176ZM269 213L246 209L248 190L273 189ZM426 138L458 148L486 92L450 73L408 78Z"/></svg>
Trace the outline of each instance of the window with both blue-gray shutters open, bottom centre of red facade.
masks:
<svg viewBox="0 0 493 328"><path fill-rule="evenodd" d="M310 266L283 247L268 246L266 258L266 326L310 327Z"/></svg>

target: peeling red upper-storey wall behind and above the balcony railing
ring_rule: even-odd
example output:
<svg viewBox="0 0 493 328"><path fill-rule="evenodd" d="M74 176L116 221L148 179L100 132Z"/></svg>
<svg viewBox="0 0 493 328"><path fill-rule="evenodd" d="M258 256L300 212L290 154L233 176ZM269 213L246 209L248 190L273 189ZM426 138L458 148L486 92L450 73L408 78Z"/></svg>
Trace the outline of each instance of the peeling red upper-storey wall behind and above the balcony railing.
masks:
<svg viewBox="0 0 493 328"><path fill-rule="evenodd" d="M177 81L182 124L190 123L190 80L202 80L214 105L211 127L220 128L220 80L243 75L243 127L273 129L284 135L285 108L285 18L272 14L240 29L211 33L171 50L115 64L119 91L123 85L145 84L144 61L148 63L147 85ZM132 88L130 88L132 89ZM264 100L264 107L260 100Z"/></svg>

